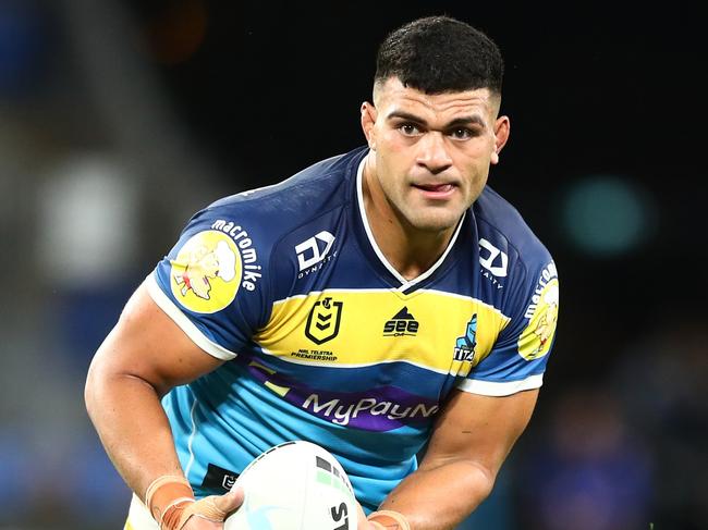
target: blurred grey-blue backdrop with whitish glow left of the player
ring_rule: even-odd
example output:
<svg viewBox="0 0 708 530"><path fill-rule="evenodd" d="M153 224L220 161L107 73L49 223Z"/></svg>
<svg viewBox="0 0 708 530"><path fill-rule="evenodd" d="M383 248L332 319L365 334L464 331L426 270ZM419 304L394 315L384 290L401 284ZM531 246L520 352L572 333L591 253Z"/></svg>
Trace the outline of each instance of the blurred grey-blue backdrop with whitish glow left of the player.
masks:
<svg viewBox="0 0 708 530"><path fill-rule="evenodd" d="M129 491L88 422L86 370L216 193L133 33L111 2L0 2L2 529L122 528Z"/></svg>

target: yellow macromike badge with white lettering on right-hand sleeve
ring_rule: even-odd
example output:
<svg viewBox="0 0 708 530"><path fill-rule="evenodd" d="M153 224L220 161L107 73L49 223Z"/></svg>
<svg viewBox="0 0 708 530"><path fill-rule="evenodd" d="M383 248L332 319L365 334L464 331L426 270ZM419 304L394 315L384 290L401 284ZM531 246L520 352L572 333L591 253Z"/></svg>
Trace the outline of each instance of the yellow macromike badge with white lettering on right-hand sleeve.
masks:
<svg viewBox="0 0 708 530"><path fill-rule="evenodd" d="M542 271L524 317L528 325L518 338L518 355L526 360L544 357L556 333L559 308L558 271L549 263Z"/></svg>

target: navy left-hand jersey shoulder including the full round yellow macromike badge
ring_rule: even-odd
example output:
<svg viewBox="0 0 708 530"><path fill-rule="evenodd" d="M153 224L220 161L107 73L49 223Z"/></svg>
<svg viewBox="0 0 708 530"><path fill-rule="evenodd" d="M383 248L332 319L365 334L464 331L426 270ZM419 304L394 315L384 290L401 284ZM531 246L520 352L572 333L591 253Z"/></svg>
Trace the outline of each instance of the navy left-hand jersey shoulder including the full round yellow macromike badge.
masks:
<svg viewBox="0 0 708 530"><path fill-rule="evenodd" d="M247 321L248 329L263 324L270 300L288 292L297 272L293 237L304 239L302 227L317 227L352 200L349 183L362 157L353 151L318 162L281 184L225 197L195 213L158 264L162 291L207 319L229 307L233 321Z"/></svg>

